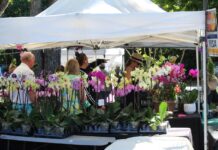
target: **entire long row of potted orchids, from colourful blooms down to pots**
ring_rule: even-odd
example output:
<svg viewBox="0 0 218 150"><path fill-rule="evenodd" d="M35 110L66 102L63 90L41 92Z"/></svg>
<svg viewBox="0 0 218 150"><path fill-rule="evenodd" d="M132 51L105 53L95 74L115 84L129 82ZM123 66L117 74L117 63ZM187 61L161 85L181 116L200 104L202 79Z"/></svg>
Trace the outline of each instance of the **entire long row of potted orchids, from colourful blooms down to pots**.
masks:
<svg viewBox="0 0 218 150"><path fill-rule="evenodd" d="M131 81L124 77L125 72L114 70L107 75L95 70L89 76L81 75L74 80L64 73L42 74L35 81L15 74L4 75L0 77L1 132L56 138L75 133L164 133L166 127L162 128L161 124L169 106L166 102L158 105L157 113L149 106L140 108L130 104L123 107L120 104L129 93L142 91L152 93L153 101L180 98L185 99L184 102L194 102L197 91L187 90L186 81L197 75L196 69L187 74L183 64L169 61L136 68L131 72ZM81 89L88 88L96 93L95 101L102 92L109 93L103 93L105 107L90 106L86 100L78 99ZM12 102L13 92L19 97L23 94L21 90L35 92L36 103L30 104L27 95L22 95L22 106L19 98Z"/></svg>

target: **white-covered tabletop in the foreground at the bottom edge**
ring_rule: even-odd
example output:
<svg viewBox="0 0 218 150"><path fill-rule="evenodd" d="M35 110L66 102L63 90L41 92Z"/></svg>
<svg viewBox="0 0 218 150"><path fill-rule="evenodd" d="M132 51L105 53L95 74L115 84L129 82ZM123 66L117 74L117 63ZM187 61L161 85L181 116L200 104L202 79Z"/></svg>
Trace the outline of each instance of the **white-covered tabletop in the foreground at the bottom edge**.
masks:
<svg viewBox="0 0 218 150"><path fill-rule="evenodd" d="M191 142L184 137L132 137L116 140L105 150L193 150Z"/></svg>

